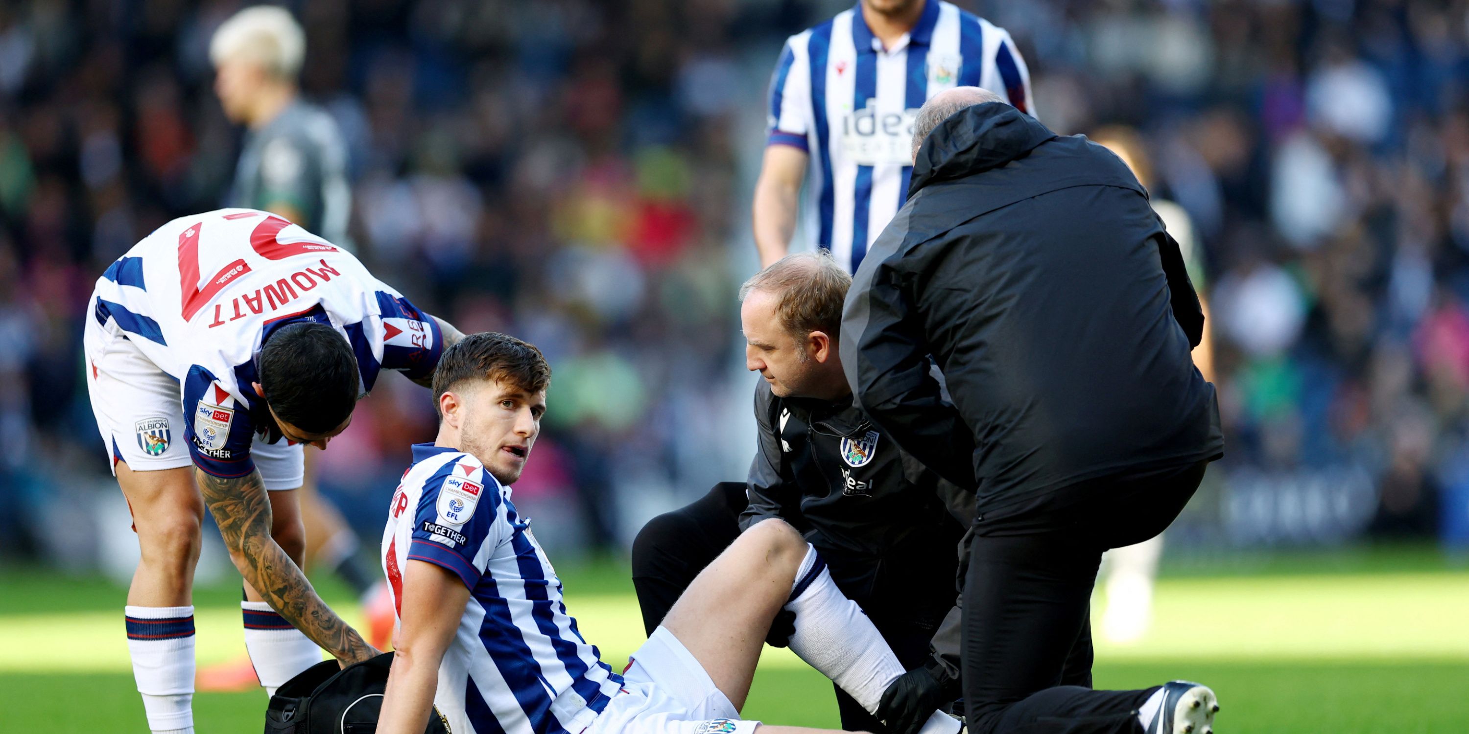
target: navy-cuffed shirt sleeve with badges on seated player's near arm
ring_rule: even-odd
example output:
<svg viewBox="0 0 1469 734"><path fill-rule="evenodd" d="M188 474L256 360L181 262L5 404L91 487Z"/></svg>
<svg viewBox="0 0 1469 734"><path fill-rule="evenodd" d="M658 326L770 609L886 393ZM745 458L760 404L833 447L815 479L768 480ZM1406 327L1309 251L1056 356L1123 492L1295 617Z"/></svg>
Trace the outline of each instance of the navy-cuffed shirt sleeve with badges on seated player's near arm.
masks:
<svg viewBox="0 0 1469 734"><path fill-rule="evenodd" d="M499 483L474 457L455 455L423 483L408 561L442 567L474 589L489 565L480 550L499 545L507 526Z"/></svg>

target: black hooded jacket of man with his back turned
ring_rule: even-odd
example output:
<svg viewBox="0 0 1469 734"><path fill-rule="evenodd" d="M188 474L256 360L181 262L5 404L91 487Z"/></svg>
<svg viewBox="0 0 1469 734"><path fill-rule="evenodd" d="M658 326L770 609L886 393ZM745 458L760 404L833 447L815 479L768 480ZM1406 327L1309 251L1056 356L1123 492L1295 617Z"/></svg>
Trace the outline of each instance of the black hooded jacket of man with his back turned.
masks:
<svg viewBox="0 0 1469 734"><path fill-rule="evenodd" d="M989 103L924 141L908 203L853 276L840 349L861 410L977 487L989 520L1222 455L1190 357L1202 330L1178 244L1127 166Z"/></svg>

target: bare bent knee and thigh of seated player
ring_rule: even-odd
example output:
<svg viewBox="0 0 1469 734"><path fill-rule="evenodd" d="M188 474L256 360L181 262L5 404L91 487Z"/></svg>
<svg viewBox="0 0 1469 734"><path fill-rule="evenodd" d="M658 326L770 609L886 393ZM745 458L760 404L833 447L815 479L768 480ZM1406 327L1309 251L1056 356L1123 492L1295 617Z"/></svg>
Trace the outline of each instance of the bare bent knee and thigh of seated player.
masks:
<svg viewBox="0 0 1469 734"><path fill-rule="evenodd" d="M745 708L770 621L805 555L806 542L793 527L759 523L695 577L663 619L736 709Z"/></svg>

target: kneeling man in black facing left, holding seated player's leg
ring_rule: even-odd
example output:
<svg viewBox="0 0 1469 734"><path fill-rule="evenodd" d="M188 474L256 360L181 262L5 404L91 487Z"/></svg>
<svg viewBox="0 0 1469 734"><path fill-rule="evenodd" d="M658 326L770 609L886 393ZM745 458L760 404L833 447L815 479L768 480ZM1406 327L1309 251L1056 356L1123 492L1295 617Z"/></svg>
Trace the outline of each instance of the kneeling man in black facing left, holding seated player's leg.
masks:
<svg viewBox="0 0 1469 734"><path fill-rule="evenodd" d="M974 495L899 451L852 405L836 339L851 280L818 250L787 255L740 288L746 367L761 374L749 480L717 484L649 521L633 543L633 584L651 633L742 528L786 520L821 552L903 666L918 671L900 678L903 696L895 686L884 697L878 713L889 727L837 690L843 728L886 733L909 719L921 727L959 694L956 543ZM776 644L780 625L777 618ZM1078 650L1087 658L1071 664L1077 675L1068 683L1089 686L1090 637ZM890 709L889 699L911 711Z"/></svg>

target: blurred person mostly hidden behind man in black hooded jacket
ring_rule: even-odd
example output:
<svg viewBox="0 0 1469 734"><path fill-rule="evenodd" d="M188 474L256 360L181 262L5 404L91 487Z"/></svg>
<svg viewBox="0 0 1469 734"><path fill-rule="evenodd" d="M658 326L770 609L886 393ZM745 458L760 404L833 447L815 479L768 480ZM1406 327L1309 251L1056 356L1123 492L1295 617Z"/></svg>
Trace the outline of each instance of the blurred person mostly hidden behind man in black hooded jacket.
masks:
<svg viewBox="0 0 1469 734"><path fill-rule="evenodd" d="M1155 185L1152 159L1143 138L1125 125L1106 126L1091 135L1091 141L1111 150L1127 163L1137 182L1144 189ZM1184 257L1188 280L1199 295L1203 310L1203 338L1191 352L1194 366L1203 379L1213 382L1213 327L1209 323L1209 299L1205 295L1203 244L1194 235L1188 211L1178 204L1149 191L1149 204L1163 228L1178 242ZM1102 573L1106 575L1106 608L1102 612L1102 639L1130 644L1147 634L1153 621L1153 584L1158 578L1158 562L1163 555L1163 533L1125 548L1115 548L1102 556Z"/></svg>

